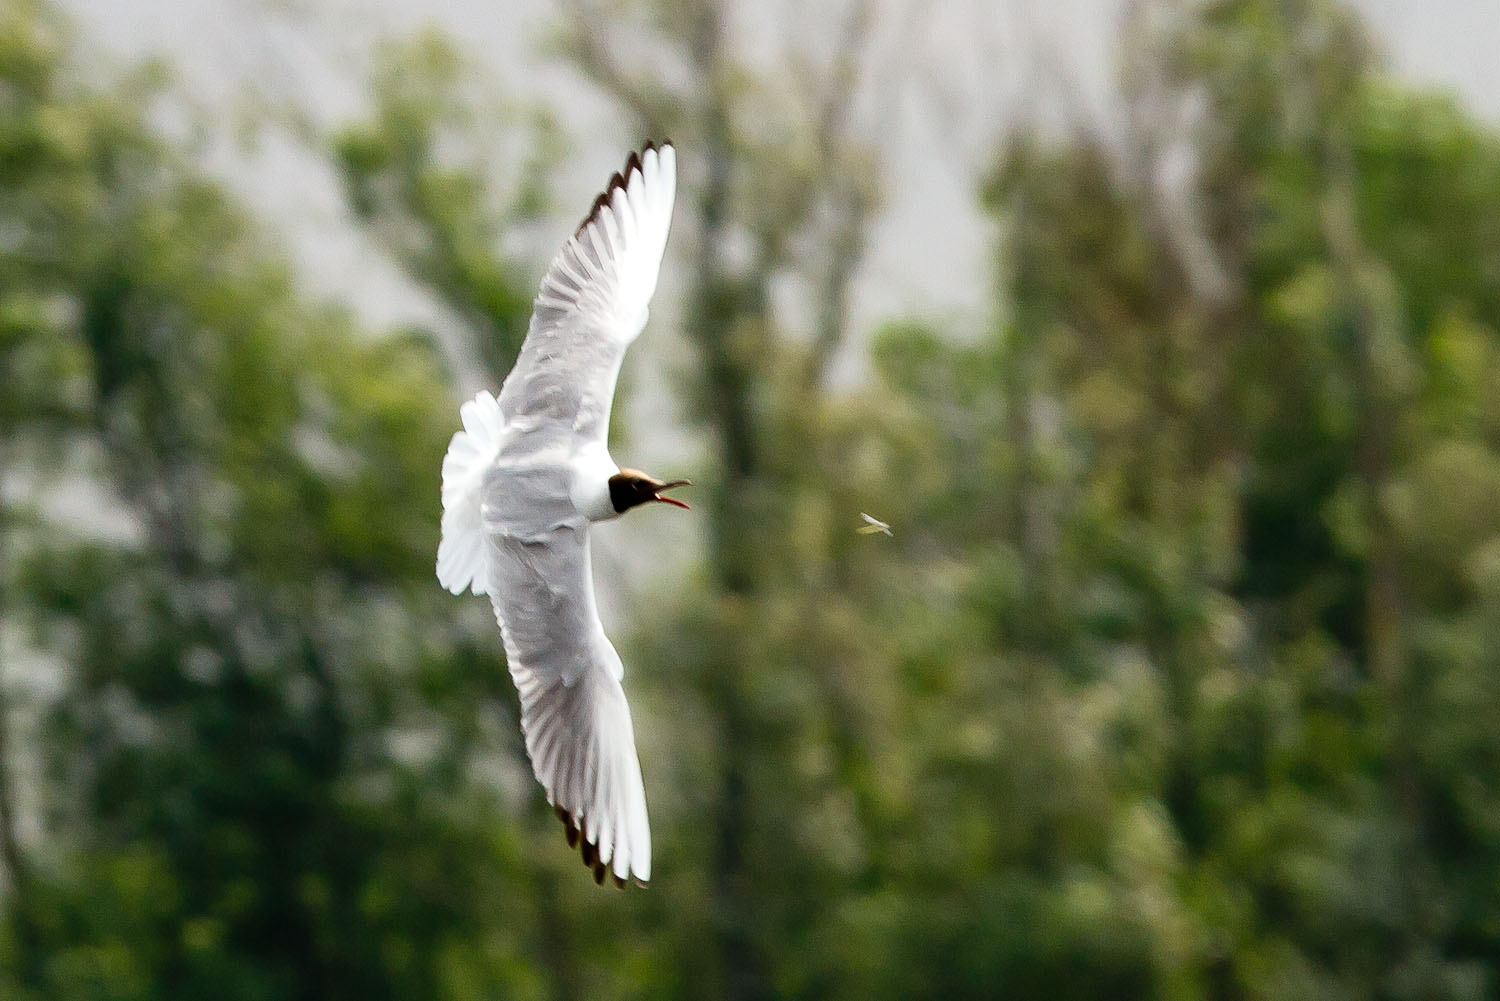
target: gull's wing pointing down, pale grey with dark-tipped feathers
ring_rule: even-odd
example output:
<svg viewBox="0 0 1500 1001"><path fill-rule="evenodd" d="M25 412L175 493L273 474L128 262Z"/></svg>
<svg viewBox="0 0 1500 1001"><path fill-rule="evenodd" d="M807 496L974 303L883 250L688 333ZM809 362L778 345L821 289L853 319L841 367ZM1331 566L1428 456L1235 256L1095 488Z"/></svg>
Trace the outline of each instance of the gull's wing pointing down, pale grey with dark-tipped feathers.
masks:
<svg viewBox="0 0 1500 1001"><path fill-rule="evenodd" d="M646 794L624 668L594 605L588 522L489 533L490 600L520 693L531 767L603 882L651 878Z"/></svg>

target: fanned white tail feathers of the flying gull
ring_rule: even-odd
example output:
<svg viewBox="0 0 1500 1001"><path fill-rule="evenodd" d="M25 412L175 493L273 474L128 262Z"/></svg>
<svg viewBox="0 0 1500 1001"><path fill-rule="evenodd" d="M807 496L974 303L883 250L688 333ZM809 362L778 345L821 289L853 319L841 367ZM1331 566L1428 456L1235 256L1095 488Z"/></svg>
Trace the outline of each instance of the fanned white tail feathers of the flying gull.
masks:
<svg viewBox="0 0 1500 1001"><path fill-rule="evenodd" d="M459 408L464 431L453 435L442 456L442 540L438 543L438 582L454 594L489 590L484 569L484 525L480 491L484 471L500 453L506 420L500 404L482 392Z"/></svg>

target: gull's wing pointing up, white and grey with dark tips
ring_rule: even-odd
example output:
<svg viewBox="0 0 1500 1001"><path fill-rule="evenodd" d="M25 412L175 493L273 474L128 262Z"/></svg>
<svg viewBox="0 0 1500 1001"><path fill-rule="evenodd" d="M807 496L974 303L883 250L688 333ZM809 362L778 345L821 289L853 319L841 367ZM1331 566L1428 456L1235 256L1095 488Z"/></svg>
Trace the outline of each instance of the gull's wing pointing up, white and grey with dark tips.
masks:
<svg viewBox="0 0 1500 1001"><path fill-rule="evenodd" d="M626 348L646 323L676 197L676 152L646 144L558 252L500 390L506 423L562 422L603 441Z"/></svg>

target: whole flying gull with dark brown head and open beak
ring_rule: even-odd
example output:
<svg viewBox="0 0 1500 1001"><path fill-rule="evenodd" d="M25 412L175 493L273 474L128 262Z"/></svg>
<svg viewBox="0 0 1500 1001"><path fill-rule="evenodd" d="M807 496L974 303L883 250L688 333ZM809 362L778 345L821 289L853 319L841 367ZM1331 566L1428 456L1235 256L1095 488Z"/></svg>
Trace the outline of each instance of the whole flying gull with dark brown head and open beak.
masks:
<svg viewBox="0 0 1500 1001"><path fill-rule="evenodd" d="M442 459L438 582L489 594L537 780L594 881L651 879L651 830L624 666L594 603L590 525L646 503L687 507L609 458L609 407L646 324L676 152L646 143L609 179L542 279L500 396L459 408Z"/></svg>

